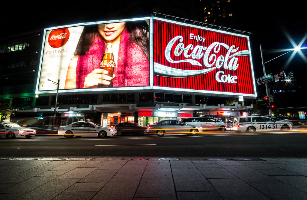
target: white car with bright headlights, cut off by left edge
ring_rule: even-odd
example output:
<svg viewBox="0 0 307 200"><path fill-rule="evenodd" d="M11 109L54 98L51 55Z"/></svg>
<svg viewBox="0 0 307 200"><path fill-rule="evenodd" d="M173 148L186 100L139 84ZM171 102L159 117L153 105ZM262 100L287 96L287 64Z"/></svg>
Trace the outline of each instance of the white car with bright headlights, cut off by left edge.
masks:
<svg viewBox="0 0 307 200"><path fill-rule="evenodd" d="M0 137L6 137L8 139L20 137L31 138L35 133L34 129L25 128L12 122L0 123Z"/></svg>

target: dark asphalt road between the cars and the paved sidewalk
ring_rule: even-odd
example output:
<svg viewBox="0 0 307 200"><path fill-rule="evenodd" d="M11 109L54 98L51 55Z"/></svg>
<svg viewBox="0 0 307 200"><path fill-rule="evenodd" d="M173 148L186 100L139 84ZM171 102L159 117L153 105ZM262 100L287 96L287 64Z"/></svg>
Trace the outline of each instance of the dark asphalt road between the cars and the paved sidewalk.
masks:
<svg viewBox="0 0 307 200"><path fill-rule="evenodd" d="M14 140L2 138L0 157L306 158L306 132L216 132L196 136L142 135L72 139L62 136L34 136Z"/></svg>

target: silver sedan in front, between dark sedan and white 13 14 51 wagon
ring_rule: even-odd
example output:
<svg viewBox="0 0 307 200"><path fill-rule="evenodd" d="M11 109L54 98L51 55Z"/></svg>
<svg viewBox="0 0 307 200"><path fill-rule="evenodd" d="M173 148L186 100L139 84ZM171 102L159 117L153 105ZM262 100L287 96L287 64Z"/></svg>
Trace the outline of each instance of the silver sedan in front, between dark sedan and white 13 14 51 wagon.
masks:
<svg viewBox="0 0 307 200"><path fill-rule="evenodd" d="M149 134L157 134L163 136L164 134L192 134L203 132L203 128L195 125L188 125L176 119L164 119L154 124L147 126Z"/></svg>

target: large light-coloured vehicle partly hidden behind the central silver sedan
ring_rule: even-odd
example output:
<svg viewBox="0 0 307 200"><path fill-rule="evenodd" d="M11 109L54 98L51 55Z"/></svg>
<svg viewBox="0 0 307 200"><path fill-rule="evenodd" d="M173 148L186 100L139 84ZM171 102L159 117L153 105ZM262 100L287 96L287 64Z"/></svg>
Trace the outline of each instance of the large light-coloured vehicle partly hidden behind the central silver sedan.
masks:
<svg viewBox="0 0 307 200"><path fill-rule="evenodd" d="M201 126L203 130L220 130L226 131L226 124L211 117L189 117L181 120L190 125Z"/></svg>

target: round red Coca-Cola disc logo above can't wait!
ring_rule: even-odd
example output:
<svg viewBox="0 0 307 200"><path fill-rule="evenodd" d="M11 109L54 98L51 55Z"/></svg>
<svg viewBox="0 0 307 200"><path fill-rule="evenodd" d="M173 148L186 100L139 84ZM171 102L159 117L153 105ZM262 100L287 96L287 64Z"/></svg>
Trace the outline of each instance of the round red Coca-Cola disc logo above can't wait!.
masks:
<svg viewBox="0 0 307 200"><path fill-rule="evenodd" d="M60 28L52 30L49 33L48 43L53 48L59 48L64 46L69 39L69 30L68 28Z"/></svg>

